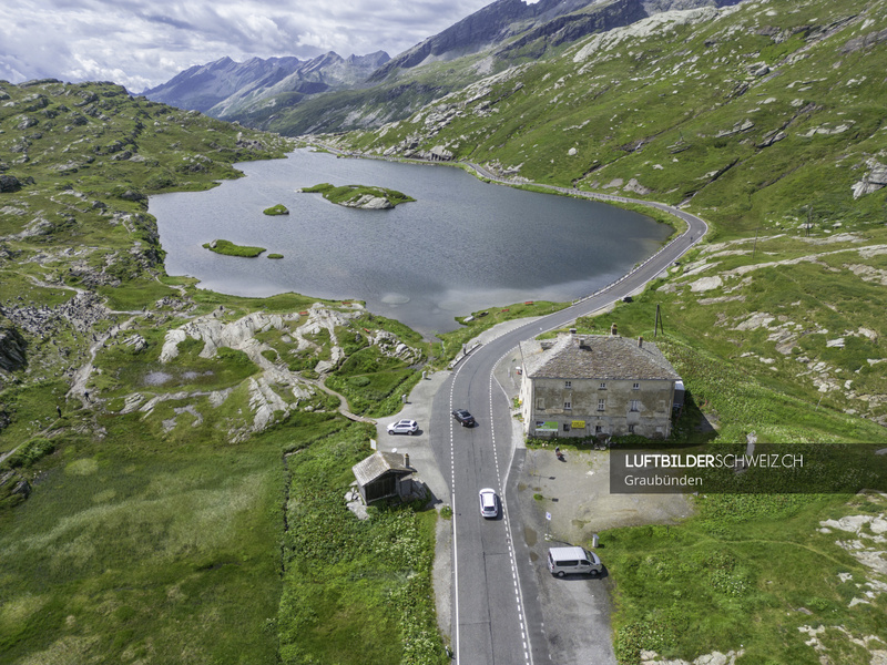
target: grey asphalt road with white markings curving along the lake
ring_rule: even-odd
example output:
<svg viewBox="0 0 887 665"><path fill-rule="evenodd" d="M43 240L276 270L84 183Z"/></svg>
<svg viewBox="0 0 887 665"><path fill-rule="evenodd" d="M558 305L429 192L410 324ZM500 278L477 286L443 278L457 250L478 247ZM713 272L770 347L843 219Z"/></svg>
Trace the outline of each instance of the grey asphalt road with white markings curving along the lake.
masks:
<svg viewBox="0 0 887 665"><path fill-rule="evenodd" d="M493 178L488 172L472 167L485 177ZM664 204L551 188L593 200L653 206L682 218L689 228L608 287L476 349L459 362L437 392L429 423L430 444L452 499L452 640L456 661L463 665L543 665L550 662L536 571L524 555L518 502L514 488L508 483L512 466L519 464L520 459L512 438L511 405L495 380L496 365L521 340L565 327L577 317L640 290L707 231L701 218ZM471 411L478 424L473 428L459 426L450 416L457 408ZM501 497L499 519L480 516L478 492L481 488L492 488Z"/></svg>

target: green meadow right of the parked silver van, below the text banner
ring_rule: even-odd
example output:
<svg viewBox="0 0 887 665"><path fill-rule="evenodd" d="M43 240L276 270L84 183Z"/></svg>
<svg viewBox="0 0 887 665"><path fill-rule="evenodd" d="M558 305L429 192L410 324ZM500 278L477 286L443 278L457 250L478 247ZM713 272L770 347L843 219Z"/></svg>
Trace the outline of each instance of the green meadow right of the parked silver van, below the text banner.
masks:
<svg viewBox="0 0 887 665"><path fill-rule="evenodd" d="M883 494L708 494L694 503L699 514L679 526L601 535L616 581L620 663L638 663L642 651L685 659L741 652L737 663L762 665L870 662L887 632L887 596L864 595L871 569L836 543L849 534L822 533L820 522L883 514Z"/></svg>

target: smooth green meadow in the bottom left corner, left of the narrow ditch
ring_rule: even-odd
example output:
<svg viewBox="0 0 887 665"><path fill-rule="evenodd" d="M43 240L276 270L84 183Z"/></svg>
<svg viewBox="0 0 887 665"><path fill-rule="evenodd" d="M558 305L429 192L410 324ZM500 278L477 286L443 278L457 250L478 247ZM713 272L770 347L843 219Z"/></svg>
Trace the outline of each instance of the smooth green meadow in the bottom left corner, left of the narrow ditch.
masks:
<svg viewBox="0 0 887 665"><path fill-rule="evenodd" d="M274 662L279 448L182 450L102 421L0 514L4 662Z"/></svg>

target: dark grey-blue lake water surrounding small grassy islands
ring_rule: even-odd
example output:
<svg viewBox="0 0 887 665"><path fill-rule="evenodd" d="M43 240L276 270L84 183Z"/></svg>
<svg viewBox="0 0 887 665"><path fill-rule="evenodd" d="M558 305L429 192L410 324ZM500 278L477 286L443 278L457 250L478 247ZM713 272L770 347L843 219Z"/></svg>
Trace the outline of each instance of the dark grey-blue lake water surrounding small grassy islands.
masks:
<svg viewBox="0 0 887 665"><path fill-rule="evenodd" d="M246 177L210 192L151 197L170 275L242 296L295 291L365 300L370 311L426 334L451 330L455 316L487 307L593 293L671 233L636 213L486 184L452 167L306 150L237 167ZM389 187L417 201L358 211L296 192L325 182ZM263 214L278 203L288 216ZM202 247L216 238L284 258Z"/></svg>

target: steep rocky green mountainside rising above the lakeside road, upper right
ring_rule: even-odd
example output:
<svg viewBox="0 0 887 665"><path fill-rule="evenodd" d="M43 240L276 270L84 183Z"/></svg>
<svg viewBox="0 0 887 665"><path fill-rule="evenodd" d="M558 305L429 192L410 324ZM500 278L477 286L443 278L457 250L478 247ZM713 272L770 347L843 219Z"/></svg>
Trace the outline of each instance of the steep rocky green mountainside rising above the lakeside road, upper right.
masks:
<svg viewBox="0 0 887 665"><path fill-rule="evenodd" d="M693 200L724 221L848 202L879 218L883 193L864 193L884 184L885 12L865 0L670 11L344 143L419 157L438 146L533 182Z"/></svg>

